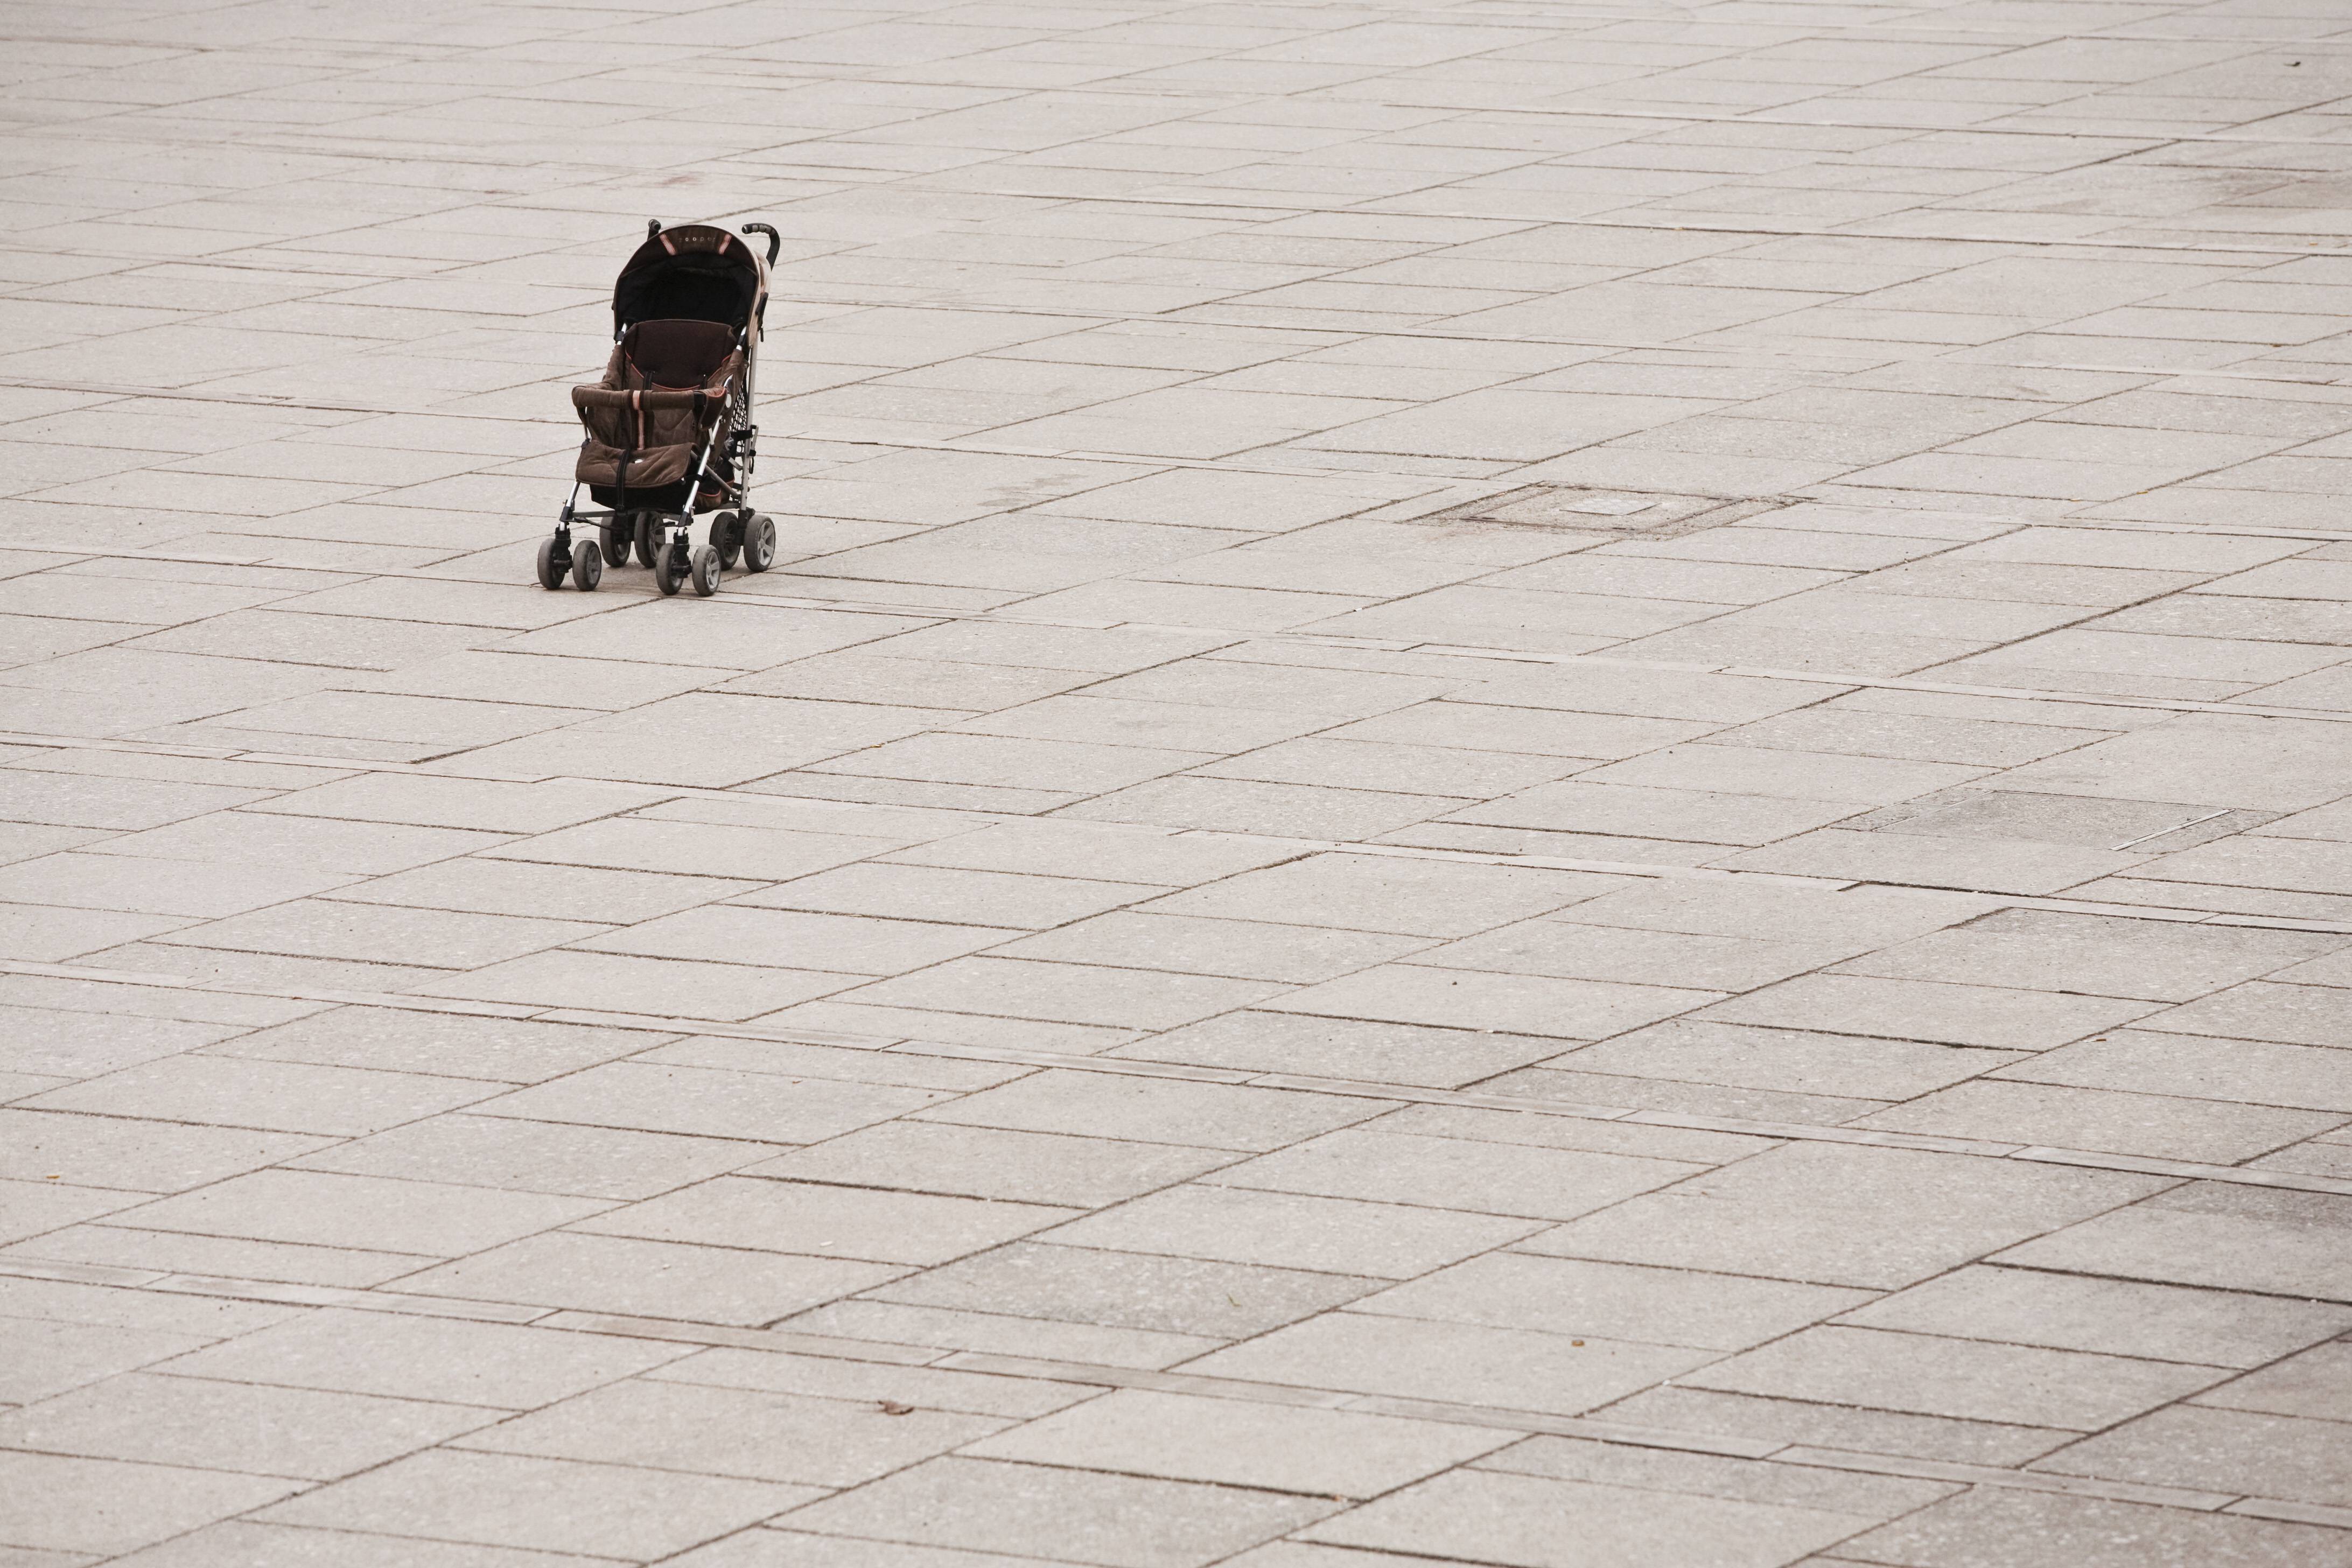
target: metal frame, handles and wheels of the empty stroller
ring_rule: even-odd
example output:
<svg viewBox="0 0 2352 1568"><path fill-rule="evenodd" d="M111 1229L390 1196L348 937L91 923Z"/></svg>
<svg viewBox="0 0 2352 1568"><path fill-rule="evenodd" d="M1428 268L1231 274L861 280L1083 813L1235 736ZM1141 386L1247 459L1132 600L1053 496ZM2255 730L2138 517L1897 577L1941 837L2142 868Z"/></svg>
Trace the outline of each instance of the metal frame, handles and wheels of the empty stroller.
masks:
<svg viewBox="0 0 2352 1568"><path fill-rule="evenodd" d="M776 228L769 223L743 223L741 228L746 235L767 237L767 263L774 263L776 254L783 249L783 237ZM682 480L649 487L656 494L682 487L682 501L677 508L630 503L626 458L616 475L621 482L609 487L616 491L616 498L604 510L581 508L581 487L588 487L590 491L600 487L588 477L574 477L572 494L564 498L564 505L555 517L555 531L539 545L541 588L553 590L569 581L583 592L595 590L597 581L604 576L602 569L607 564L623 564L630 550L635 550L637 562L654 569L654 585L663 595L675 595L691 581L699 597L710 597L720 588L720 571L734 567L739 557L748 571L767 571L776 559L776 524L771 517L755 512L750 505L750 475L760 449L760 425L753 418L753 374L757 369L760 324L767 315L767 263L760 263L753 256L746 240L739 240L715 226L682 223L668 230L668 240L663 233L661 219L647 221L644 244L637 247L637 254L630 256L630 263L621 270L621 280L614 284L614 343L623 343L630 329L647 320L630 320L630 275L661 268L663 254L656 252L677 256L680 240L684 240L691 249L708 249L715 237L722 254L731 242L755 268L755 292L750 296L750 306L741 313L741 320L722 322L734 329L734 348L741 353L743 364L724 386L722 407L710 421L710 428L701 433L694 465ZM701 320L717 317L703 313ZM708 393L574 390L574 407L579 409L621 407L623 402L633 409L682 409L694 404L696 416L701 416ZM713 456L720 458L717 465L713 465ZM715 494L717 503L706 508L706 494ZM649 494L649 501L654 496ZM590 496L590 505L595 505L595 496ZM696 512L706 512L708 520L701 520ZM597 541L576 543L576 527L595 529Z"/></svg>

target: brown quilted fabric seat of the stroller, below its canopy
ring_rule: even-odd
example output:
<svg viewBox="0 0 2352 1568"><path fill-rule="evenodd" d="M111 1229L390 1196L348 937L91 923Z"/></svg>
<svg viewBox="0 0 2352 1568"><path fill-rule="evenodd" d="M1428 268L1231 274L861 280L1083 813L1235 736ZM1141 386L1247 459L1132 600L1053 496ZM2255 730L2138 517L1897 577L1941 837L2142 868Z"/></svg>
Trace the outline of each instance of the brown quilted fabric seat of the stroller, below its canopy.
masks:
<svg viewBox="0 0 2352 1568"><path fill-rule="evenodd" d="M736 331L720 322L637 322L614 343L604 378L572 388L588 437L574 475L597 501L656 510L684 505L703 440L743 374ZM722 454L713 454L713 468ZM717 505L715 489L703 505Z"/></svg>

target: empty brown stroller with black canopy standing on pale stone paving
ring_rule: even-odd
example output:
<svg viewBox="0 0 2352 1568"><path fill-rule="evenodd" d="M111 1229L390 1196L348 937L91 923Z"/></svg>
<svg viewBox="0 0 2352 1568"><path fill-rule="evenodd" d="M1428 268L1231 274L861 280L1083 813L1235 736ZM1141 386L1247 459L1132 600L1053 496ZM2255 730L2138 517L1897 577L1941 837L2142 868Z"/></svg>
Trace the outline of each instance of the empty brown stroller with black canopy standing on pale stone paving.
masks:
<svg viewBox="0 0 2352 1568"><path fill-rule="evenodd" d="M750 510L760 440L750 395L767 266L783 242L767 223L746 223L743 233L767 235L767 261L710 223L644 226L644 244L612 284L604 378L572 388L588 440L555 534L539 543L541 588L569 578L593 590L607 564L635 550L663 595L691 581L696 595L710 597L739 557L746 571L767 571L776 559L776 524ZM604 510L579 510L583 484ZM696 512L710 517L701 541ZM597 529L600 538L574 543L574 527Z"/></svg>

